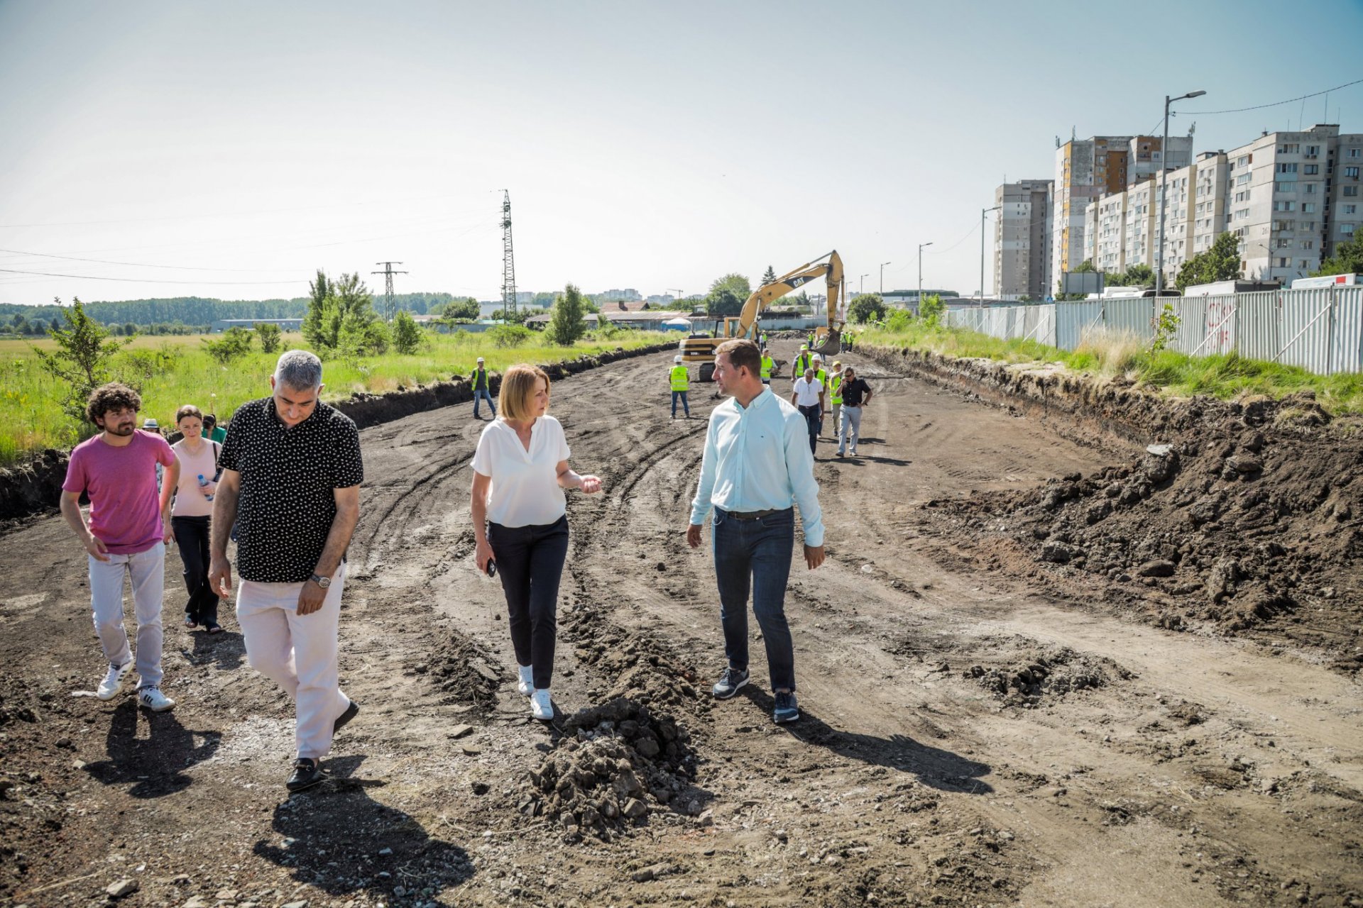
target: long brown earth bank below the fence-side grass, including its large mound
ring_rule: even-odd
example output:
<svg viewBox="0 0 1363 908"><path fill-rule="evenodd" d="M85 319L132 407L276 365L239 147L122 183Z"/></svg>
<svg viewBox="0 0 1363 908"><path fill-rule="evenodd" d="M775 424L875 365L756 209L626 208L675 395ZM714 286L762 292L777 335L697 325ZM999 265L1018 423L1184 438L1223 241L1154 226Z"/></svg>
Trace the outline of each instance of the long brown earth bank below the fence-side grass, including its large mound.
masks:
<svg viewBox="0 0 1363 908"><path fill-rule="evenodd" d="M878 351L1029 415L1078 441L1146 444L1144 455L1021 491L935 501L995 570L1073 587L1171 630L1254 632L1363 668L1363 422L1333 419L1308 392L1169 399L1050 368ZM1088 584L1085 587L1085 584Z"/></svg>

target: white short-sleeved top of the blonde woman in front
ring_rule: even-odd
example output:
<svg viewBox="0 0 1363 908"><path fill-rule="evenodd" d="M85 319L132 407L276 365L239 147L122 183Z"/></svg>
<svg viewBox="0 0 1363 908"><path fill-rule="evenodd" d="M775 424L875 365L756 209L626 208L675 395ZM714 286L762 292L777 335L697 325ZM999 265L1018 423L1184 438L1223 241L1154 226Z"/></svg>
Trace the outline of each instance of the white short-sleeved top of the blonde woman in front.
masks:
<svg viewBox="0 0 1363 908"><path fill-rule="evenodd" d="M553 417L540 417L530 426L529 451L504 419L488 423L473 452L474 472L492 479L488 520L503 527L557 521L567 510L557 466L570 453L563 426Z"/></svg>

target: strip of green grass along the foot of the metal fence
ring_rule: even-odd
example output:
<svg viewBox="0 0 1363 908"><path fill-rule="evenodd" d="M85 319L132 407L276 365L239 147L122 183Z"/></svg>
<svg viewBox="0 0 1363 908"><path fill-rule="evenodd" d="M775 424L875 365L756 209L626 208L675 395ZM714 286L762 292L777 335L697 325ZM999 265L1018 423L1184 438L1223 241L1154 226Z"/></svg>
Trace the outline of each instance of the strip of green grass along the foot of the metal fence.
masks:
<svg viewBox="0 0 1363 908"><path fill-rule="evenodd" d="M1363 412L1363 374L1318 376L1234 353L1214 357L1189 357L1168 350L1152 353L1129 335L1093 335L1074 350L1059 350L1035 340L999 340L962 328L913 321L902 331L867 329L857 340L1000 362L1059 362L1100 378L1124 376L1174 396L1202 393L1228 400L1243 393L1281 398L1295 391L1314 391L1317 402L1330 412Z"/></svg>

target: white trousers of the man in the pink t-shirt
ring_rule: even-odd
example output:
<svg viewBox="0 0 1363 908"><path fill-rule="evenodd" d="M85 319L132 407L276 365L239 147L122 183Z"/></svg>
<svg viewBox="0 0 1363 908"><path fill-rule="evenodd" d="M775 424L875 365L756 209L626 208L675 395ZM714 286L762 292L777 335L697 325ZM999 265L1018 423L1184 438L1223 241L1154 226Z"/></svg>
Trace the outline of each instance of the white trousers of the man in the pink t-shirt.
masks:
<svg viewBox="0 0 1363 908"><path fill-rule="evenodd" d="M132 660L123 628L123 579L132 581L132 614L138 619L138 689L161 683L161 595L165 592L166 547L158 542L134 555L110 554L90 561L90 610L94 632L110 666Z"/></svg>

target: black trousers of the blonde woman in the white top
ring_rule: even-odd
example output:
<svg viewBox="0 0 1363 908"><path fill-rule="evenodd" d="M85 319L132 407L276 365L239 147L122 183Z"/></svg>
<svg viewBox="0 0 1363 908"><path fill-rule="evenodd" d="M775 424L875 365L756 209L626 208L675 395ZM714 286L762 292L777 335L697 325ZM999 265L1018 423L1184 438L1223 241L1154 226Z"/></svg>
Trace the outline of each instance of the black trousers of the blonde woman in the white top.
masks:
<svg viewBox="0 0 1363 908"><path fill-rule="evenodd" d="M489 521L488 545L507 598L515 660L533 668L536 687L548 687L553 679L553 643L559 630L559 580L568 557L568 516L529 527Z"/></svg>

